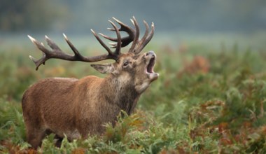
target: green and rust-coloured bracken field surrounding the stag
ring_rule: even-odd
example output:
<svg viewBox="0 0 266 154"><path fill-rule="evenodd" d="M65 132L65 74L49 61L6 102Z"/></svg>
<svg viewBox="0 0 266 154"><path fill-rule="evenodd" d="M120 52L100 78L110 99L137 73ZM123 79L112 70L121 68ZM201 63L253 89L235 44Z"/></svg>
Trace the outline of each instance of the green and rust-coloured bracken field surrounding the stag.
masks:
<svg viewBox="0 0 266 154"><path fill-rule="evenodd" d="M66 45L63 45L66 47ZM66 48L64 48L66 49ZM105 52L83 48L84 55ZM39 153L266 153L266 49L237 44L213 49L151 43L160 78L142 94L131 116L106 124L102 136L43 140ZM20 100L45 77L103 76L82 62L49 60L35 71L33 45L0 48L0 153L36 153L25 141Z"/></svg>

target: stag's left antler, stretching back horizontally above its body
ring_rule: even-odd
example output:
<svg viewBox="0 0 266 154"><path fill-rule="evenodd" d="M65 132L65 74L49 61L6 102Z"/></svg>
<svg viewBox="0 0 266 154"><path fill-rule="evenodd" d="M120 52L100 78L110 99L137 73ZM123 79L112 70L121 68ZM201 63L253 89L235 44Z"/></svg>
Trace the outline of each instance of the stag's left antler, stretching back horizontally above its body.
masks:
<svg viewBox="0 0 266 154"><path fill-rule="evenodd" d="M111 22L109 20L109 22ZM74 52L74 55L69 55L66 52L63 52L57 44L52 41L48 36L45 36L45 41L48 43L50 48L52 50L49 50L48 48L45 48L43 43L38 42L35 38L32 38L31 36L28 35L29 39L36 45L36 47L43 52L43 57L41 59L35 59L31 55L29 58L35 63L36 65L36 70L38 70L38 67L41 66L41 64L45 64L45 61L48 59L64 59L64 60L69 60L69 61L81 61L81 62L99 62L104 59L115 59L117 60L119 55L121 54L121 36L120 36L120 31L118 30L118 27L111 22L111 25L114 28L114 31L116 31L116 35L118 38L116 38L116 50L114 52L111 51L111 49L99 38L99 36L91 29L92 33L94 36L97 38L99 43L107 50L108 54L103 54L103 55L97 55L94 57L84 57L83 55L80 55L80 52L75 48L75 46L69 41L69 38L64 35L64 39L66 40L66 43L68 43L69 47L71 50Z"/></svg>

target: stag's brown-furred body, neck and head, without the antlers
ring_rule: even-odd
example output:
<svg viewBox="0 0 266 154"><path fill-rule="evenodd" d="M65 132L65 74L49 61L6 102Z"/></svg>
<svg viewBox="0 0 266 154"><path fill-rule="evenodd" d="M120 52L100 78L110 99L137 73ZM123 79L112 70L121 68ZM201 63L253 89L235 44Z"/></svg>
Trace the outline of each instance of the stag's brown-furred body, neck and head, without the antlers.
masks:
<svg viewBox="0 0 266 154"><path fill-rule="evenodd" d="M123 54L118 62L92 65L106 78L86 76L75 78L46 78L31 85L22 98L27 141L33 148L41 146L45 135L58 138L86 138L102 134L104 124L116 123L121 110L131 114L144 90L157 73L146 73L148 62L155 54ZM129 64L123 66L124 62Z"/></svg>

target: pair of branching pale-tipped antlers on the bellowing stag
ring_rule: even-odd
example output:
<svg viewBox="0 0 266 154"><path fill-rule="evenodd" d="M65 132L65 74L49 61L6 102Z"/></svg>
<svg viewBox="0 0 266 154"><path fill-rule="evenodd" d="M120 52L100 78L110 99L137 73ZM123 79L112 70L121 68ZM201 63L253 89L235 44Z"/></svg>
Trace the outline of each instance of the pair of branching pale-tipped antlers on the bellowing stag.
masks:
<svg viewBox="0 0 266 154"><path fill-rule="evenodd" d="M110 41L116 42L116 43L111 43L112 45L111 48L116 48L114 52L112 52L111 49L102 41L102 39L99 38L99 36L91 29L92 34L94 34L94 36L97 38L99 43L107 50L108 54L97 55L94 57L84 57L83 55L80 55L80 52L78 52L78 50L71 43L71 41L69 41L69 38L67 38L66 35L63 34L64 39L66 40L66 43L68 43L69 47L74 52L74 55L69 55L66 52L63 52L54 41L48 38L48 36L45 36L45 41L48 43L48 45L50 46L52 50L45 48L43 43L38 42L35 38L32 38L31 36L28 35L32 43L34 43L36 47L43 52L43 57L41 57L41 59L34 59L34 57L31 57L31 56L29 56L29 58L35 63L36 70L38 70L38 67L41 66L41 64L45 64L45 62L48 59L52 59L52 58L64 59L64 60L69 60L69 61L81 61L81 62L99 62L104 59L117 60L118 57L121 55L120 50L122 47L125 47L126 45L132 42L132 46L129 52L134 52L134 54L139 54L139 52L141 52L141 50L147 45L149 41L151 41L151 38L153 37L153 33L154 33L153 23L151 25L151 31L149 32L148 24L144 20L146 31L145 31L144 36L141 38L141 40L139 40L139 25L138 25L136 18L134 18L134 16L131 21L135 29L132 29L128 25L125 25L123 22L120 22L120 20L117 20L116 18L113 18L113 20L118 22L118 24L120 25L120 29L118 29L118 27L116 27L116 25L111 20L109 20L109 22L113 26L113 28L109 28L109 30L116 31L117 38L111 38L101 33L99 34L103 36L104 38L109 39ZM121 38L120 31L125 31L128 34L128 36Z"/></svg>

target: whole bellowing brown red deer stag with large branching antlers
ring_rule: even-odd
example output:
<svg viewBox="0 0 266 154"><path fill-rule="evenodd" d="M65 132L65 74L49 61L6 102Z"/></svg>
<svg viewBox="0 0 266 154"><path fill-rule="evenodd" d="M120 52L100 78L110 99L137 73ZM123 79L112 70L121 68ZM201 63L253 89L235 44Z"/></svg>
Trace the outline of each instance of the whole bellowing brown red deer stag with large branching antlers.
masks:
<svg viewBox="0 0 266 154"><path fill-rule="evenodd" d="M139 25L133 17L131 20L134 29L113 18L120 28L111 21L116 31L117 38L100 34L104 38L116 42L111 43L112 51L99 36L93 31L99 43L107 50L108 54L94 57L83 57L64 35L74 55L63 52L48 36L45 36L50 49L43 43L29 36L32 43L43 52L41 59L30 57L36 64L36 70L48 59L64 59L69 61L99 62L104 59L114 59L112 64L91 64L100 73L108 73L105 78L85 76L76 78L45 78L31 85L22 98L23 116L27 131L27 141L33 148L41 146L42 139L55 133L58 139L64 134L71 141L85 139L89 134L102 134L104 124L116 123L121 110L130 115L134 110L141 93L158 78L158 73L153 71L156 55L153 51L140 54L154 33L144 21L146 32L139 39ZM121 37L120 31L125 31L128 36ZM132 42L127 53L120 50Z"/></svg>

